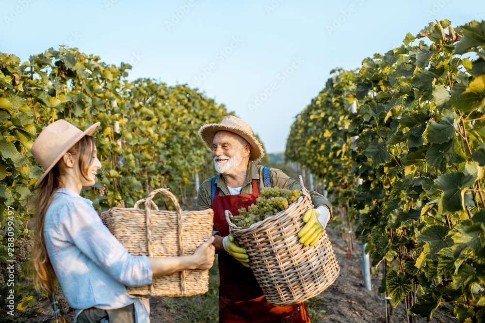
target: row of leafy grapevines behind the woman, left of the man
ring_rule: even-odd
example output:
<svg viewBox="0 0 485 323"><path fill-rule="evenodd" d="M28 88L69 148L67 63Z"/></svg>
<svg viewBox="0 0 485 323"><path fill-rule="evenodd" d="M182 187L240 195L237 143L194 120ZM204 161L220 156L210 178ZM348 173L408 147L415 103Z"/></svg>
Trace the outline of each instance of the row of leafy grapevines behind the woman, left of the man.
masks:
<svg viewBox="0 0 485 323"><path fill-rule="evenodd" d="M58 119L81 129L101 123L94 137L103 167L96 185L81 192L99 212L132 206L158 187L182 194L193 185L195 171L202 178L213 174L197 132L203 124L220 122L227 114L224 105L186 85L129 82L130 68L63 46L23 63L0 53L1 231L11 227L14 240L27 234L35 212L33 185L42 173L30 149L42 129ZM0 262L12 258L7 243L0 235Z"/></svg>

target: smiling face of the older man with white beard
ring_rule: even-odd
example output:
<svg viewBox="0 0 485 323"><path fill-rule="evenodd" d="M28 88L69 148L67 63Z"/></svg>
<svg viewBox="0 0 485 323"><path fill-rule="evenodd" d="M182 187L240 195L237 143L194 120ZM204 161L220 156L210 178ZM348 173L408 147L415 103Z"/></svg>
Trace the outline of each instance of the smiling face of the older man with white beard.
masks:
<svg viewBox="0 0 485 323"><path fill-rule="evenodd" d="M212 157L218 173L230 173L242 162L244 150L236 136L229 131L218 131L212 140Z"/></svg>

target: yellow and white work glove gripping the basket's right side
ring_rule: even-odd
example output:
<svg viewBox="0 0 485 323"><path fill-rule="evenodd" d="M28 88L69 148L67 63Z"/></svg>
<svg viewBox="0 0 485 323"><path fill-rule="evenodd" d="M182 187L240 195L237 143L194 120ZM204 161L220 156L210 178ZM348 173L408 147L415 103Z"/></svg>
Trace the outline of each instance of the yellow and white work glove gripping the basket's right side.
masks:
<svg viewBox="0 0 485 323"><path fill-rule="evenodd" d="M299 243L304 246L313 246L323 234L330 218L330 211L324 206L310 209L303 215L305 226L298 232Z"/></svg>

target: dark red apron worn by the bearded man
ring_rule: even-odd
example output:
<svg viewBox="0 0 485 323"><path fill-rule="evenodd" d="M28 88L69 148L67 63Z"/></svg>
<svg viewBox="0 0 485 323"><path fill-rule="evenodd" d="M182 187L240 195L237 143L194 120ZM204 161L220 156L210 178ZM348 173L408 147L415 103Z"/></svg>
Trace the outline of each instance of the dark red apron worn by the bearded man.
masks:
<svg viewBox="0 0 485 323"><path fill-rule="evenodd" d="M229 235L225 210L239 215L238 209L256 204L259 197L257 180L253 179L253 194L219 196L215 191L214 230ZM227 252L219 253L219 322L220 323L310 323L304 302L291 306L274 306L266 301L250 268L244 267Z"/></svg>

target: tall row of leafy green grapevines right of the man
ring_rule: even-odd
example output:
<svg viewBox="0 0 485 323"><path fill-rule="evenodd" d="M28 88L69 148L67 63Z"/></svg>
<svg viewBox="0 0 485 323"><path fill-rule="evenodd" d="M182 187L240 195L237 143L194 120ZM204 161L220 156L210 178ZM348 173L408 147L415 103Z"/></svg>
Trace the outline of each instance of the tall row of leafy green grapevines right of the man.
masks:
<svg viewBox="0 0 485 323"><path fill-rule="evenodd" d="M380 290L428 322L443 302L460 322L484 316L484 26L433 22L356 71L332 71L287 142L286 158L350 206L372 264L386 260Z"/></svg>

